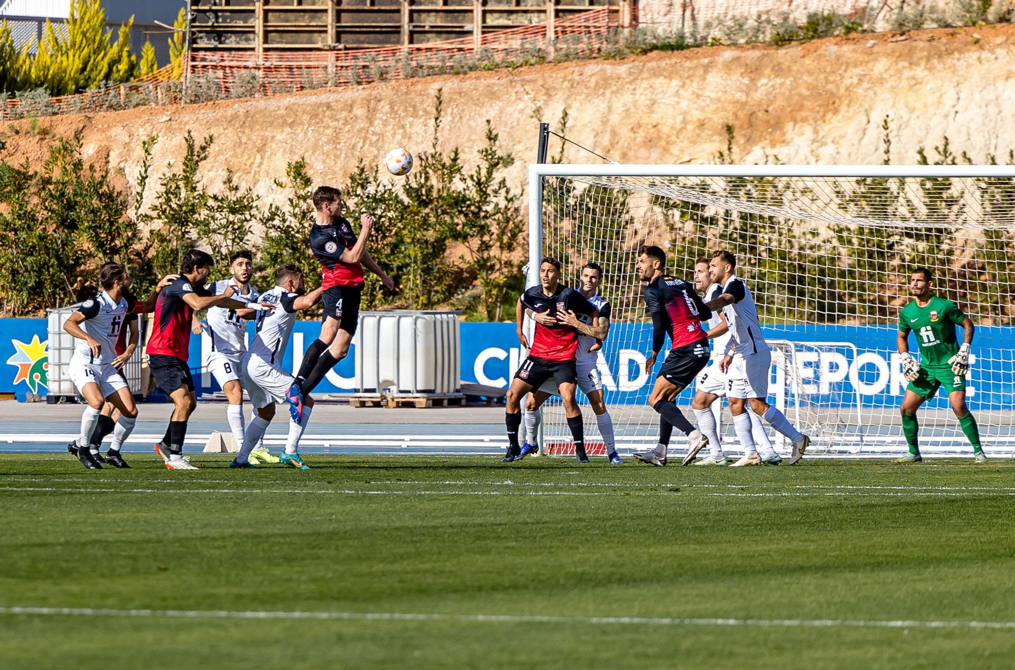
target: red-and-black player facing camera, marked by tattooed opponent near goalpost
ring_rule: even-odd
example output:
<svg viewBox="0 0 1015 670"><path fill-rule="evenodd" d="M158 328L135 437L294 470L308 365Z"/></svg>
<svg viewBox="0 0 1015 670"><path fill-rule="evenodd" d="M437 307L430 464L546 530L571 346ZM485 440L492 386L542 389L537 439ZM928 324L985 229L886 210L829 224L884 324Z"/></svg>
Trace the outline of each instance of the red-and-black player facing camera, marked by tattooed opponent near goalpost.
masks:
<svg viewBox="0 0 1015 670"><path fill-rule="evenodd" d="M527 309L551 317L556 317L558 314L565 315L568 312L589 316L592 318L593 328L599 325L599 311L581 292L560 285L560 262L556 259L549 256L543 258L539 265L539 280L540 285L525 291L518 299L516 308L518 339L523 347L529 349L529 356L518 368L511 388L507 389L504 421L507 425L510 444L502 460L511 463L522 454L518 444L518 429L522 424L522 398L525 394L543 386L543 383L552 377L563 401L567 427L570 428L574 441L574 455L582 463L588 463L582 410L574 400L574 388L578 385L578 373L574 368L578 331L564 324L543 325L537 322L530 347L522 327Z"/></svg>

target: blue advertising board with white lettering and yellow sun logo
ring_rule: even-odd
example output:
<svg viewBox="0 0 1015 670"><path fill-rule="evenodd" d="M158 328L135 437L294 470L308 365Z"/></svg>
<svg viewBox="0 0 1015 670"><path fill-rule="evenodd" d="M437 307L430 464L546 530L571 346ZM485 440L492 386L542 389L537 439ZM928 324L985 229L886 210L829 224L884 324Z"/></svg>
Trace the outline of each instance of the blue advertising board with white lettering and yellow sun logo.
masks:
<svg viewBox="0 0 1015 670"><path fill-rule="evenodd" d="M298 367L307 346L320 332L319 321L297 322L282 358L287 370ZM514 324L462 324L463 382L506 388L522 354ZM767 338L796 343L799 383L804 393L829 405L889 407L898 404L905 383L895 353L894 324L874 326L780 326L763 327ZM650 353L652 327L649 324L614 324L603 351L599 368L606 385L609 404L644 403L652 389L654 374L645 368ZM810 344L809 344L810 343ZM819 344L813 344L819 343ZM45 319L0 319L0 347L6 350L6 364L0 370L0 393L46 394L48 353ZM910 342L916 349L916 343ZM212 376L203 365L211 351L205 336L191 339L191 362L199 392L217 391ZM972 368L967 393L973 408L1009 409L1015 394L1015 327L977 328L972 347ZM354 351L342 360L318 387L322 394L348 393L354 386ZM661 364L661 360L657 362ZM779 374L773 379L780 380ZM784 380L785 381L785 380ZM937 398L935 406L947 400Z"/></svg>

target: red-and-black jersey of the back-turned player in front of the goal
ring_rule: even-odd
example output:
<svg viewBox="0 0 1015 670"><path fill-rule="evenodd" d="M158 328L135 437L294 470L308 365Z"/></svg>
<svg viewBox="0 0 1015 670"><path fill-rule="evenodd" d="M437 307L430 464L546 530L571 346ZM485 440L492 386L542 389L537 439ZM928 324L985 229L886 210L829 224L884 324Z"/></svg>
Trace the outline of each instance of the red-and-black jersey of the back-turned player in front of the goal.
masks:
<svg viewBox="0 0 1015 670"><path fill-rule="evenodd" d="M707 338L701 321L712 317L712 310L701 300L694 286L683 279L668 274L656 277L645 288L645 302L654 326L653 351L662 348L667 333L673 349Z"/></svg>

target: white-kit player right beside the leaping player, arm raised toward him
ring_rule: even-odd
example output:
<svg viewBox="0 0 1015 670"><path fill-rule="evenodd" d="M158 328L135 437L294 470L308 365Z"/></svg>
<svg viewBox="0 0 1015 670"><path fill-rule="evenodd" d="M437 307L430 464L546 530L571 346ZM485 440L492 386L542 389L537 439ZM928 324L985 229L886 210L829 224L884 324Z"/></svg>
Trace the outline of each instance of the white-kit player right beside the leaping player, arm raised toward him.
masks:
<svg viewBox="0 0 1015 670"><path fill-rule="evenodd" d="M303 276L299 268L295 265L283 265L275 270L275 287L261 295L261 302L271 303L277 309L258 315L257 334L244 354L244 386L257 414L247 426L243 446L229 463L230 468L256 467L250 462L250 454L275 417L275 403L286 402L286 392L294 381L289 373L282 370L282 354L289 343L296 313L317 305L321 300L322 290L319 287L303 295ZM283 465L300 470L310 469L299 455L299 439L307 428L313 409L314 399L309 395L302 398L301 412L294 407L289 408L292 420L289 423L285 453L280 457Z"/></svg>

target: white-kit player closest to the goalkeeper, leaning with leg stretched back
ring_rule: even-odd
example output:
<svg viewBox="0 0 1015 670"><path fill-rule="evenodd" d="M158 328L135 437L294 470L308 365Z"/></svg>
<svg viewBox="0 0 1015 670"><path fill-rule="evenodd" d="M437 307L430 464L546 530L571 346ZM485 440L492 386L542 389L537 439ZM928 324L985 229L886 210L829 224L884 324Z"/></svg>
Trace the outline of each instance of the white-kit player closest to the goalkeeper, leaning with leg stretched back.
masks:
<svg viewBox="0 0 1015 670"><path fill-rule="evenodd" d="M793 443L790 465L795 465L803 458L811 439L797 430L783 412L766 402L771 351L761 335L754 297L743 280L734 274L736 267L737 259L730 252L719 251L713 255L708 264L709 273L712 280L723 287L723 292L707 303L713 310L723 310L730 329L730 340L719 368L729 375L726 396L733 414L733 427L744 447L743 458L733 465L779 465L783 460L774 450L765 452L763 445L763 456L758 456L758 445L751 434L751 418L747 413L748 402L755 414Z"/></svg>

